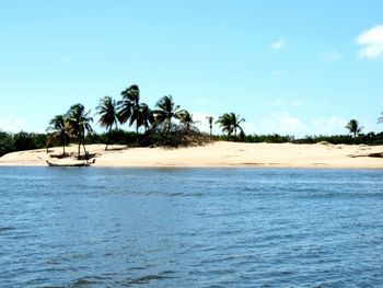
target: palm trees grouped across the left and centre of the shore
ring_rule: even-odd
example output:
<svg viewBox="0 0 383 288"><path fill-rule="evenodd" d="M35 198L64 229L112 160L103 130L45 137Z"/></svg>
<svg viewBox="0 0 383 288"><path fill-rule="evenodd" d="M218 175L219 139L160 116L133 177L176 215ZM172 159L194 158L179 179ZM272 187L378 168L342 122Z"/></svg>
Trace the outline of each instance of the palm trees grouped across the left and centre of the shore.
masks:
<svg viewBox="0 0 383 288"><path fill-rule="evenodd" d="M82 104L72 105L69 111L62 115L55 116L49 122L48 145L56 142L62 143L63 155L65 147L70 139L74 139L78 142L78 155L80 158L81 146L83 147L86 155L86 149L84 146L84 139L88 134L93 131L92 122L90 116L91 111L85 111ZM96 115L98 124L104 127L108 135L112 134L114 128L118 127L118 124L123 125L128 123L129 126L135 126L137 140L139 138L139 129L143 127L144 134L149 131L161 131L163 134L171 134L172 131L179 131L184 135L189 135L192 131L198 133L196 124L193 119L193 115L186 111L181 110L179 105L176 105L171 95L165 95L160 99L155 108L151 110L148 104L140 103L140 90L138 85L130 85L121 92L121 100L115 101L111 96L104 96L100 100L96 106ZM174 119L177 122L175 123ZM210 136L212 135L213 117L208 117L210 126ZM223 133L228 133L228 138L234 133L236 139L237 129L243 133L240 124L244 122L239 115L234 113L225 113L219 117L216 122L220 125ZM107 145L105 147L107 150Z"/></svg>

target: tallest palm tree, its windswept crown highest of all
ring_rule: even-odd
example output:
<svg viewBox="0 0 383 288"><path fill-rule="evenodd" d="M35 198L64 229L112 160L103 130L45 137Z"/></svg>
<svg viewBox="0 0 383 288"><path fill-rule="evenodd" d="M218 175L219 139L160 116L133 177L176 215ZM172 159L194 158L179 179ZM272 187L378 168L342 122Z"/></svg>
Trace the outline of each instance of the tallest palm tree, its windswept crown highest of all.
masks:
<svg viewBox="0 0 383 288"><path fill-rule="evenodd" d="M140 89L131 85L121 92L123 100L118 101L118 119L121 124L129 120L129 126L136 123L136 135L138 137L140 112Z"/></svg>

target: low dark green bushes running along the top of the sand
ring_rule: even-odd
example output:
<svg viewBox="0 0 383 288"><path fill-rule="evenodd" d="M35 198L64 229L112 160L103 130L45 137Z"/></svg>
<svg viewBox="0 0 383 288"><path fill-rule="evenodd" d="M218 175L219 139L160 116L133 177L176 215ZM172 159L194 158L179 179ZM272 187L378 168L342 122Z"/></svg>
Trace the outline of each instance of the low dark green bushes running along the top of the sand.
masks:
<svg viewBox="0 0 383 288"><path fill-rule="evenodd" d="M34 134L34 133L18 133L8 134L0 133L0 157L14 151L30 150L30 149L47 149L47 142L49 147L62 146L62 141L58 138L47 141L47 134ZM193 139L194 145L205 145L214 140L228 140L227 136L212 136L207 137L204 134L196 134ZM230 140L234 140L231 138ZM318 143L329 142L333 145L383 145L383 133L374 134L360 134L357 138L351 135L334 135L334 136L306 136L304 138L294 139L292 136L282 136L278 134L274 135L246 135L243 139L244 142L267 142L267 143ZM84 138L84 145L92 143L109 143L109 145L126 145L126 146L171 146L179 147L190 145L188 137L174 137L174 135L139 135L137 141L137 135L134 131L126 131L123 129L113 129L111 133L103 134L90 134ZM67 142L66 145L68 145Z"/></svg>

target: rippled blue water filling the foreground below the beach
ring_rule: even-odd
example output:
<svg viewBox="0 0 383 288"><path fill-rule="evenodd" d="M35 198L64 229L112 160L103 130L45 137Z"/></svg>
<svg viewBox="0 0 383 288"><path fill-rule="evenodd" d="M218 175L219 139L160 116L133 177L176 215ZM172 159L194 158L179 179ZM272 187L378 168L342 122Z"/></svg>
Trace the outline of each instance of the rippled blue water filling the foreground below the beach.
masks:
<svg viewBox="0 0 383 288"><path fill-rule="evenodd" d="M382 287L383 171L0 168L0 287Z"/></svg>

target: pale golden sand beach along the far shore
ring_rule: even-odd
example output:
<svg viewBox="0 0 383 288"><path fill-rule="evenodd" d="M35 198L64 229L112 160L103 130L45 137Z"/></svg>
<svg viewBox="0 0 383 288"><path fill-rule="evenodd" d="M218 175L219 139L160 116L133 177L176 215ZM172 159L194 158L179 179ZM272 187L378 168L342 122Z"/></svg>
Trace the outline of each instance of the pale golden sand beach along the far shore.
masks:
<svg viewBox="0 0 383 288"><path fill-rule="evenodd" d="M66 152L77 152L77 145ZM383 146L295 143L243 143L218 141L188 148L126 148L105 145L86 146L100 168L328 168L382 169ZM83 150L82 150L83 152ZM44 166L44 160L63 161L50 155L62 153L62 147L19 151L0 158L2 166Z"/></svg>

